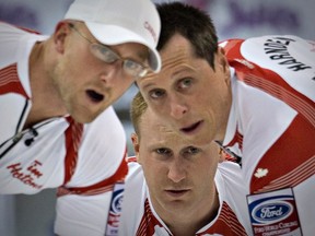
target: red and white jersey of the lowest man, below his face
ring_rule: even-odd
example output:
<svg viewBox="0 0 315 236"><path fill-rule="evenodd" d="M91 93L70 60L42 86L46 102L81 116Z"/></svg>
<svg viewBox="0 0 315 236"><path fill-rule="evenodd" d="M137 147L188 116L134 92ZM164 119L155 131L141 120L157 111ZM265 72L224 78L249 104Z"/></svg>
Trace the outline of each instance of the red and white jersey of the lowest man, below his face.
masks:
<svg viewBox="0 0 315 236"><path fill-rule="evenodd" d="M128 167L119 235L173 235L154 211L141 165L137 162L129 162ZM245 189L240 172L241 168L235 163L219 164L214 182L219 193L220 209L215 219L200 228L196 235L240 236L250 232Z"/></svg>

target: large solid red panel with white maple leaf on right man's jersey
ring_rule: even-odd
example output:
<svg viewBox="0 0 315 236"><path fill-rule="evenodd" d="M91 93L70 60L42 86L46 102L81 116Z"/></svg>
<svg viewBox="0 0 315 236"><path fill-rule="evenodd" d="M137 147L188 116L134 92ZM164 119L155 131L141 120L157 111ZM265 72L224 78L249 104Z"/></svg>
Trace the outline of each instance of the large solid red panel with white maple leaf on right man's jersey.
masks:
<svg viewBox="0 0 315 236"><path fill-rule="evenodd" d="M296 133L302 135L296 139ZM256 172L261 168L268 174L264 178L253 175L250 192L294 187L315 175L314 137L314 127L298 115L257 164Z"/></svg>

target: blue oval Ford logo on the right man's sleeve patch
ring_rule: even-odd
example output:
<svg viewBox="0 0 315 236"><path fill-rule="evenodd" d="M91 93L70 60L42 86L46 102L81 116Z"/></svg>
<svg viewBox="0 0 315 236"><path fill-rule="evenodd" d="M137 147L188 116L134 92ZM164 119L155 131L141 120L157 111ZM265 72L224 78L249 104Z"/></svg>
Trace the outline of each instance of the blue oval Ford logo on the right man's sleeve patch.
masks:
<svg viewBox="0 0 315 236"><path fill-rule="evenodd" d="M277 223L291 215L293 206L289 202L265 202L253 209L252 216L259 223Z"/></svg>

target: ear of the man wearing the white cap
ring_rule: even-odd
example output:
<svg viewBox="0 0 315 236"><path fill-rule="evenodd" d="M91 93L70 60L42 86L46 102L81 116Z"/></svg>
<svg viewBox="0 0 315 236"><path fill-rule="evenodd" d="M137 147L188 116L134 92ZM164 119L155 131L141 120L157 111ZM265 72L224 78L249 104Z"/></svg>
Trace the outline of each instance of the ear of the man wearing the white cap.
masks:
<svg viewBox="0 0 315 236"><path fill-rule="evenodd" d="M60 54L65 52L66 38L70 34L71 28L69 27L69 23L61 21L56 25L54 33L54 43L56 46L56 50Z"/></svg>

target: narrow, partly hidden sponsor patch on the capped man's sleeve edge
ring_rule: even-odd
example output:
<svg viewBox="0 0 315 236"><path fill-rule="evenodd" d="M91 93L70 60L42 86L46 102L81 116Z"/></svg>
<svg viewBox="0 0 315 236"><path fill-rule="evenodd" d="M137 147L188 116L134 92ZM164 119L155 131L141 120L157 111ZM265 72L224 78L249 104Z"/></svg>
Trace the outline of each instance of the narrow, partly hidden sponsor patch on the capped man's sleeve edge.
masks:
<svg viewBox="0 0 315 236"><path fill-rule="evenodd" d="M105 234L106 236L118 235L124 190L125 190L124 182L117 182L114 186L110 208L109 208L109 213L108 213L108 219L107 219L107 226L106 226L106 234Z"/></svg>

